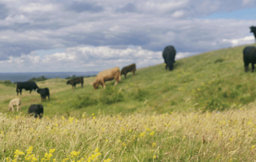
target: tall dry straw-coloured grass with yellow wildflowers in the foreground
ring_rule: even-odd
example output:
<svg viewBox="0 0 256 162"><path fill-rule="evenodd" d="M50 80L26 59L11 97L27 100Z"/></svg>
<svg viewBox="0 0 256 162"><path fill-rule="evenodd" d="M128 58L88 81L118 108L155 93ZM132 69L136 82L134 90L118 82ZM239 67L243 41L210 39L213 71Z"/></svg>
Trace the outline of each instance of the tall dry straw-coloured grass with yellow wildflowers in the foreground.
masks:
<svg viewBox="0 0 256 162"><path fill-rule="evenodd" d="M252 162L256 160L255 108L251 103L222 112L129 116L99 111L97 116L84 113L80 119L4 113L0 160Z"/></svg>

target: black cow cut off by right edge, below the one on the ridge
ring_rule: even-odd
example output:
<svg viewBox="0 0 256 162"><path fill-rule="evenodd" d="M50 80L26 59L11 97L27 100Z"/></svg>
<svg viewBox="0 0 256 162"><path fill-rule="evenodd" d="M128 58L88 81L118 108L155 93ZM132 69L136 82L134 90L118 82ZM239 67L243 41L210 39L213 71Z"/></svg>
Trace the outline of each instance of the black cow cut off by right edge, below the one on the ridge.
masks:
<svg viewBox="0 0 256 162"><path fill-rule="evenodd" d="M249 63L252 63L252 72L254 70L254 64L256 63L256 47L246 46L243 49L243 62L245 63L245 72L249 70Z"/></svg>

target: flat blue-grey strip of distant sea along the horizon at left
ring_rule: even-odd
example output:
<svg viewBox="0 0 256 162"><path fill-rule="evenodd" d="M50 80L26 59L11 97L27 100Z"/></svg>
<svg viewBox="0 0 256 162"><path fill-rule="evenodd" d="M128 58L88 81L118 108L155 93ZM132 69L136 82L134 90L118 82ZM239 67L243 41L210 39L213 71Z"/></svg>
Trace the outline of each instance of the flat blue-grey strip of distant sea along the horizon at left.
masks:
<svg viewBox="0 0 256 162"><path fill-rule="evenodd" d="M89 72L10 72L10 73L1 73L0 80L10 80L12 83L16 81L28 81L32 78L38 78L44 76L46 78L67 78L76 75L76 77L85 77L97 75L96 71Z"/></svg>

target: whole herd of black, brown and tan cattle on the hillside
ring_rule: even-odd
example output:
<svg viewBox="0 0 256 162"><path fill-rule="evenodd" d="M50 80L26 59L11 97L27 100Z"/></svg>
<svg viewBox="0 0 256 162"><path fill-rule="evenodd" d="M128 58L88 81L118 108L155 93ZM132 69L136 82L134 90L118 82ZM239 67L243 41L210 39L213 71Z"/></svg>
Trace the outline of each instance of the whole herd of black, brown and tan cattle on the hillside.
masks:
<svg viewBox="0 0 256 162"><path fill-rule="evenodd" d="M250 27L251 32L254 32L256 36L256 27ZM174 69L174 63L175 63L175 55L176 55L176 50L173 46L167 46L163 50L163 58L165 60L165 69L169 68L169 70ZM252 64L252 72L254 71L254 64L256 64L256 47L254 46L247 46L243 50L243 61L244 61L244 66L245 66L245 72L248 71L248 66L249 63ZM117 82L121 81L121 75L124 75L126 78L126 74L128 72L133 72L133 75L135 75L135 70L136 70L136 65L131 64L129 66L126 66L122 68L121 72L119 67L103 70L102 72L99 72L98 75L95 78L95 81L91 83L93 85L93 88L96 90L98 89L99 85L102 85L102 87L106 87L105 81L111 81L115 79L115 85ZM71 79L67 81L67 84L72 85L73 87L76 88L76 84L81 84L83 87L84 79L83 77L77 77L75 79ZM34 81L26 81L26 82L17 82L17 95L20 94L22 95L22 89L25 90L30 90L30 93L32 90L36 90L37 93L41 95L41 101L46 100L46 97L48 96L48 100L50 101L50 91L49 89L46 88L39 88L37 84ZM14 111L14 106L17 107L17 111L21 108L21 99L20 98L15 98L10 101L9 103L9 111L12 110ZM28 108L28 114L34 114L35 117L39 116L39 118L42 117L43 115L43 106L41 104L32 104Z"/></svg>

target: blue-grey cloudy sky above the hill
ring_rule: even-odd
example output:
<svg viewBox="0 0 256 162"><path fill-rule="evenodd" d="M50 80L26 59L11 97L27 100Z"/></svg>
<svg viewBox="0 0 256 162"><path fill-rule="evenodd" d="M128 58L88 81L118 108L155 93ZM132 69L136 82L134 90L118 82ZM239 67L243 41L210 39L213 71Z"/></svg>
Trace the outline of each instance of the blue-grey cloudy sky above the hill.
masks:
<svg viewBox="0 0 256 162"><path fill-rule="evenodd" d="M0 0L0 72L101 71L253 44L255 0Z"/></svg>

